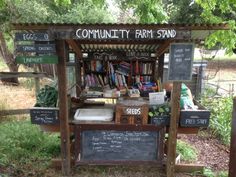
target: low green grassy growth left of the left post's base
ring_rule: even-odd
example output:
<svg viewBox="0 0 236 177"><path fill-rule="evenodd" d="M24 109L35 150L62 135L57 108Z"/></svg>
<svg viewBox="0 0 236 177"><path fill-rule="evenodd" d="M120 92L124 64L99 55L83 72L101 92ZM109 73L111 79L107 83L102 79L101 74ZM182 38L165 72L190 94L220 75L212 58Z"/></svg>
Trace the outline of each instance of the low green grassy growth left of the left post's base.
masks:
<svg viewBox="0 0 236 177"><path fill-rule="evenodd" d="M0 166L13 168L11 173L32 166L45 169L60 152L58 135L43 133L29 121L1 123L0 142Z"/></svg>

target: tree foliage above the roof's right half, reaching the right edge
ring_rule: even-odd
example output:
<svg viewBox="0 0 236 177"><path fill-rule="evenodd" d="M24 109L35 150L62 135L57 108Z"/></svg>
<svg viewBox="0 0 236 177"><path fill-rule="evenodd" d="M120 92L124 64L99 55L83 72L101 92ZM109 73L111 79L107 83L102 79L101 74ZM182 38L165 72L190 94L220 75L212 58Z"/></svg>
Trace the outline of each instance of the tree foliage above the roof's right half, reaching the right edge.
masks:
<svg viewBox="0 0 236 177"><path fill-rule="evenodd" d="M236 0L121 0L121 9L131 9L138 23L228 23L230 29L216 31L206 40L228 54L236 48Z"/></svg>

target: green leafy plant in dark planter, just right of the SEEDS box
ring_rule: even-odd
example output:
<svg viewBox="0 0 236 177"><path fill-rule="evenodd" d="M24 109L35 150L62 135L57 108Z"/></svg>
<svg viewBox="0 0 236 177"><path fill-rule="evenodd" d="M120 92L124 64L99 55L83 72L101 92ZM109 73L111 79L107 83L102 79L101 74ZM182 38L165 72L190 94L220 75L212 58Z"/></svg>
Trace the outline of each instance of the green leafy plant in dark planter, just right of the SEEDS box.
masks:
<svg viewBox="0 0 236 177"><path fill-rule="evenodd" d="M164 103L154 105L149 109L149 120L151 124L167 126L170 124L170 104Z"/></svg>

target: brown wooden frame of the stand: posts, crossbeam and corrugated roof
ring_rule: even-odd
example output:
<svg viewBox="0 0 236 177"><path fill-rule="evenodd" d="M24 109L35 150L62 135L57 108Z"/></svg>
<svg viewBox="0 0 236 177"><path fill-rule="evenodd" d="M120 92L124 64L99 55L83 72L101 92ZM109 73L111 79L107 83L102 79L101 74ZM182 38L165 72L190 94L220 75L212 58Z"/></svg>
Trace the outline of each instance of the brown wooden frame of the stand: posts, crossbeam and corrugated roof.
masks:
<svg viewBox="0 0 236 177"><path fill-rule="evenodd" d="M227 30L226 24L13 24L12 29L16 32L28 34L26 38L35 39L34 33L46 33L50 40L55 40L56 55L58 56L57 73L59 89L59 118L60 126L48 126L47 130L60 131L61 135L61 158L62 172L70 174L71 151L70 135L75 132L79 139L82 130L149 130L157 131L159 128L153 125L88 125L73 124L69 121L69 111L67 102L67 77L66 61L68 59L68 48L75 54L76 65L80 65L83 52L88 51L150 51L156 54L158 59L158 77L163 76L164 53L168 51L169 45L173 42L194 42L202 43L204 39L216 30ZM27 40L27 39L26 39ZM80 72L80 67L76 67L76 72ZM81 77L76 77L76 84L81 87ZM167 176L173 177L175 173L176 137L178 132L196 133L197 128L178 128L179 120L179 97L181 82L175 82L172 94L172 114L168 141L167 154ZM80 90L77 89L77 95ZM59 128L59 129L58 129ZM163 130L162 135L163 136ZM75 144L79 148L80 144ZM163 152L161 149L160 152ZM78 154L75 154L77 157ZM103 162L101 162L103 163ZM107 164L108 162L105 162ZM123 162L118 162L122 164ZM133 162L128 161L129 164ZM113 164L110 162L109 164ZM117 164L117 163L116 163ZM161 164L163 165L163 164Z"/></svg>

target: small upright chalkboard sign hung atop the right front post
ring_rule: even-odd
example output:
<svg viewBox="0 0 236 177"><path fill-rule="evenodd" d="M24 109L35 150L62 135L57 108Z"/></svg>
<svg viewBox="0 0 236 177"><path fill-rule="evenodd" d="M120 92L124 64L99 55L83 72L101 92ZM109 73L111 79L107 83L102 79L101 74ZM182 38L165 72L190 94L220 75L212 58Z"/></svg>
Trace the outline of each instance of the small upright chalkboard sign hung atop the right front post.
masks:
<svg viewBox="0 0 236 177"><path fill-rule="evenodd" d="M170 45L169 81L192 80L194 45L190 43L175 43Z"/></svg>

